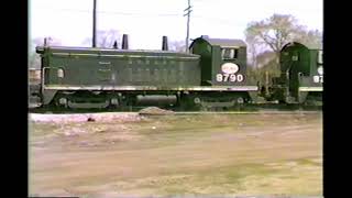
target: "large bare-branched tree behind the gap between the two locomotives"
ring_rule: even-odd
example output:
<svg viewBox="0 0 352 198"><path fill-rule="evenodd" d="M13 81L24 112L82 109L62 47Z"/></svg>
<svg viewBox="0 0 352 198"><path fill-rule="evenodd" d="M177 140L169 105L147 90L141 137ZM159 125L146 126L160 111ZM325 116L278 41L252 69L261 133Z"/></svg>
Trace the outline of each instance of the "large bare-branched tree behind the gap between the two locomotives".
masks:
<svg viewBox="0 0 352 198"><path fill-rule="evenodd" d="M293 15L273 14L265 20L249 23L245 41L250 52L249 61L255 68L250 70L263 85L268 82L266 75L270 78L280 75L278 59L284 45L299 42L307 46L321 46L322 33L307 30L306 26L298 24Z"/></svg>

